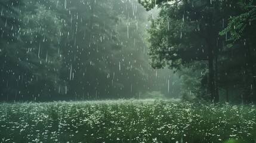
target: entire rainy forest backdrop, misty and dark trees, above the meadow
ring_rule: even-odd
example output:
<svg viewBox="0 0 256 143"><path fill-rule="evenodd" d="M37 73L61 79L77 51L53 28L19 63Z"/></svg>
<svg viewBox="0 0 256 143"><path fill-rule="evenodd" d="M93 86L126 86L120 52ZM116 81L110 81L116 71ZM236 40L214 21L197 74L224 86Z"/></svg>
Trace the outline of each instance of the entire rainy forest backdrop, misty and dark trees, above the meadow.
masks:
<svg viewBox="0 0 256 143"><path fill-rule="evenodd" d="M256 1L139 2L1 0L1 101L255 103Z"/></svg>

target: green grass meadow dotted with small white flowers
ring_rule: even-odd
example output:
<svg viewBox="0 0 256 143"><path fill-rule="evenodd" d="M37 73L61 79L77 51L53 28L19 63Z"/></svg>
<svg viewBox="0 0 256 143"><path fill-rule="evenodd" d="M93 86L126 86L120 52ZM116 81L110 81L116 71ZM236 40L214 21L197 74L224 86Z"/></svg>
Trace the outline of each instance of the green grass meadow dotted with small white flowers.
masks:
<svg viewBox="0 0 256 143"><path fill-rule="evenodd" d="M255 105L168 100L0 104L1 142L255 142Z"/></svg>

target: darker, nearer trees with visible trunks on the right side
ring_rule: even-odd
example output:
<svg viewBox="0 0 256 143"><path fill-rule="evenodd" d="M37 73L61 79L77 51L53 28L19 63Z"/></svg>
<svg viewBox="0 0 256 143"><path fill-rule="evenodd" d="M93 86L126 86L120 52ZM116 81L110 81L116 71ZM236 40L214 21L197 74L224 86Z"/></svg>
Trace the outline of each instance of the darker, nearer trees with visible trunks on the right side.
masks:
<svg viewBox="0 0 256 143"><path fill-rule="evenodd" d="M161 9L149 32L150 64L183 79L183 98L256 102L256 1L140 1Z"/></svg>

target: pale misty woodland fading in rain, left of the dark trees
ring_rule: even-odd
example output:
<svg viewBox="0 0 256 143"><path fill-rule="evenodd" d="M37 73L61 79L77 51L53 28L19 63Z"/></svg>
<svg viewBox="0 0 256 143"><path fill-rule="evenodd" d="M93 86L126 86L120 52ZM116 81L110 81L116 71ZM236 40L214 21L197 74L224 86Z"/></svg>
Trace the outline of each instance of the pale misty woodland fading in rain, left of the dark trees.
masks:
<svg viewBox="0 0 256 143"><path fill-rule="evenodd" d="M8 0L0 11L1 101L178 95L178 77L149 65L137 1Z"/></svg>

